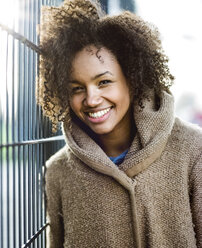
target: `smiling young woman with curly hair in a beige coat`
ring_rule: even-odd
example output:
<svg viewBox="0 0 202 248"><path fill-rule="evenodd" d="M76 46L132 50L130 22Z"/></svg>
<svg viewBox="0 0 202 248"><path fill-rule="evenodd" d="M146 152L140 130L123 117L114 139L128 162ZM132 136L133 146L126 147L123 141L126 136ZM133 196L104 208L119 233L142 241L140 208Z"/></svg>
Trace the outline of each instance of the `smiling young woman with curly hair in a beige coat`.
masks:
<svg viewBox="0 0 202 248"><path fill-rule="evenodd" d="M202 247L202 131L174 117L158 31L71 0L44 9L41 50L67 143L47 162L48 247Z"/></svg>

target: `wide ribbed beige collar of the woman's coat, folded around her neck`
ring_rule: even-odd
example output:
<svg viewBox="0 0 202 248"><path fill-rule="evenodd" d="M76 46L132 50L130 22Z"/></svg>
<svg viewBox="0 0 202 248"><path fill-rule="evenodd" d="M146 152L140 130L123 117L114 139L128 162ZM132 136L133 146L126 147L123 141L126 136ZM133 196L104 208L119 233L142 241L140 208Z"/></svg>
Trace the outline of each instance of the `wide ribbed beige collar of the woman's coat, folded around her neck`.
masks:
<svg viewBox="0 0 202 248"><path fill-rule="evenodd" d="M110 161L104 151L75 123L71 131L66 124L63 132L72 152L86 165L94 170L112 176L126 188L131 186L131 179L145 170L162 153L174 122L173 96L162 92L158 100L150 94L145 99L143 110L134 104L134 118L137 134L125 157L124 162L117 166Z"/></svg>

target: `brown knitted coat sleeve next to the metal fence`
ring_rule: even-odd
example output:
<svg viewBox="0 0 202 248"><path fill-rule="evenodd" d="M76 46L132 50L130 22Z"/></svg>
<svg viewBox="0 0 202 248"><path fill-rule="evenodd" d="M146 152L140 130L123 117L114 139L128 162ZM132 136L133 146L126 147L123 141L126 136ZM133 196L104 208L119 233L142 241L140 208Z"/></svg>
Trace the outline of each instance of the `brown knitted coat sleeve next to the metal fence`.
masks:
<svg viewBox="0 0 202 248"><path fill-rule="evenodd" d="M64 242L61 191L58 178L58 173L48 167L45 176L47 220L50 224L47 232L47 248L63 248Z"/></svg>

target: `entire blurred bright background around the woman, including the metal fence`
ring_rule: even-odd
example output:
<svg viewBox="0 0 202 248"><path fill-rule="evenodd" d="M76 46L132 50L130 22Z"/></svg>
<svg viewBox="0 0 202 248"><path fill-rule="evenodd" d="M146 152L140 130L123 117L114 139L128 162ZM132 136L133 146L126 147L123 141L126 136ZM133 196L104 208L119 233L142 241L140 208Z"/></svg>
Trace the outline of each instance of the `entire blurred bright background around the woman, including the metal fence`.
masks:
<svg viewBox="0 0 202 248"><path fill-rule="evenodd" d="M46 247L45 161L64 145L36 104L40 9L62 0L0 0L0 247ZM176 115L202 126L202 0L101 0L161 33Z"/></svg>

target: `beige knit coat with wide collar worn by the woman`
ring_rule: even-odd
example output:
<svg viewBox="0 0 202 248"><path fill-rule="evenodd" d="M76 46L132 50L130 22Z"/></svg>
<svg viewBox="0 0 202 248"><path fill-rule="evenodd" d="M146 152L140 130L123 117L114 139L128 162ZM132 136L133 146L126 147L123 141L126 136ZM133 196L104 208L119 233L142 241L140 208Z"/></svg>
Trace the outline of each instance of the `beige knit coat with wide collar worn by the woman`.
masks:
<svg viewBox="0 0 202 248"><path fill-rule="evenodd" d="M51 248L202 247L202 131L160 108L135 106L136 137L117 167L75 124L47 162Z"/></svg>

